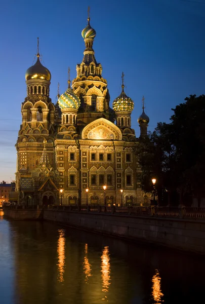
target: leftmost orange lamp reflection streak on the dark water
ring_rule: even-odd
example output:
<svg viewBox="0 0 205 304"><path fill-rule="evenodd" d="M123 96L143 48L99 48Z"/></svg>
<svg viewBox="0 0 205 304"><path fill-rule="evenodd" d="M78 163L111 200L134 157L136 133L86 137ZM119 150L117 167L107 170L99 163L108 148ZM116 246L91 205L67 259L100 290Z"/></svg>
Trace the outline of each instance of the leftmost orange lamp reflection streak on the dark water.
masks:
<svg viewBox="0 0 205 304"><path fill-rule="evenodd" d="M58 281L63 282L63 274L65 271L65 231L63 229L58 230L59 239L58 239Z"/></svg>

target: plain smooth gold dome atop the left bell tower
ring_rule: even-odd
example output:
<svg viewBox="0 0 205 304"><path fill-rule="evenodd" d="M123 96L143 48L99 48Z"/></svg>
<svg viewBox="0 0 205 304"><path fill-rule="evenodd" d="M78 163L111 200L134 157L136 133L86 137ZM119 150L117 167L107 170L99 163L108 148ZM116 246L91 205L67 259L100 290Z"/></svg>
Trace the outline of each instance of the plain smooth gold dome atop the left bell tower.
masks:
<svg viewBox="0 0 205 304"><path fill-rule="evenodd" d="M37 54L37 61L34 65L29 67L26 71L26 80L31 80L31 79L45 79L50 81L51 80L51 73L46 68L43 66L43 64L40 63L39 60L40 55Z"/></svg>

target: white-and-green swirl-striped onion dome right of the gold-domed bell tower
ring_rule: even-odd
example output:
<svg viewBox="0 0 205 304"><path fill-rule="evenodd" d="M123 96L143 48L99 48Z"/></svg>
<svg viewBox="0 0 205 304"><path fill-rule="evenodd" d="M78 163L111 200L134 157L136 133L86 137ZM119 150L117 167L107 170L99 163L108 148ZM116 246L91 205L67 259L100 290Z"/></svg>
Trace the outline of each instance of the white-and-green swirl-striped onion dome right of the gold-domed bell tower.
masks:
<svg viewBox="0 0 205 304"><path fill-rule="evenodd" d="M58 104L61 109L64 108L74 108L78 109L80 106L80 100L75 95L70 88L70 80L68 81L68 88L64 94L61 94L61 96L58 99Z"/></svg>

